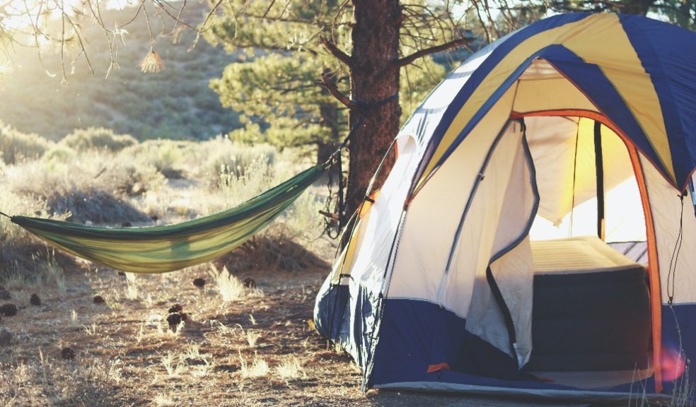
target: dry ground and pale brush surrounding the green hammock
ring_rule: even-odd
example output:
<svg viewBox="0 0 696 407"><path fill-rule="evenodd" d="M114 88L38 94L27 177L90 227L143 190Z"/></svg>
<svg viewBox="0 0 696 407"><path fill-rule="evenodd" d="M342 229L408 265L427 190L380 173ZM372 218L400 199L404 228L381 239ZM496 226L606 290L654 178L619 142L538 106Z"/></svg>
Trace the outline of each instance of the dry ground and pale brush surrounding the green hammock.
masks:
<svg viewBox="0 0 696 407"><path fill-rule="evenodd" d="M103 139L112 146L120 138L91 130L79 134L80 145L93 145L86 153L69 143L4 131L13 137L16 156L25 159L0 165L6 186L0 210L79 223L153 225L197 218L255 196L308 165L298 163L294 151L239 146L224 138L152 141L111 151ZM46 151L31 153L36 146ZM6 146L5 158L8 151ZM317 238L324 196L325 187L315 187L281 220L214 264L163 275L120 274L76 260L0 220L0 285L11 294L4 299L0 290L0 305L18 307L16 316L0 320L0 406L541 404L362 393L359 369L308 325L334 252L332 242ZM204 288L193 284L199 277ZM243 287L247 278L256 288ZM32 294L40 305L31 305ZM171 329L167 319L176 318L169 312L174 305L187 319ZM2 329L13 333L11 343Z"/></svg>

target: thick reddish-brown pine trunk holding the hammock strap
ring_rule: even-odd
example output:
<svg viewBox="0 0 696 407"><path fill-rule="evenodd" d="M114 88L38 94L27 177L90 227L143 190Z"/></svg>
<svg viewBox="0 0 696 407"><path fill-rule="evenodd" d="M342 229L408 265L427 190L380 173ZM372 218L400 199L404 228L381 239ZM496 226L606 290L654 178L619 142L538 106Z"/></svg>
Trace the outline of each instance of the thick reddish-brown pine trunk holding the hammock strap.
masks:
<svg viewBox="0 0 696 407"><path fill-rule="evenodd" d="M350 71L351 98L368 105L396 95L399 91L399 30L402 23L398 0L353 0L354 27ZM399 131L401 107L398 100L371 110L350 141L347 210L361 204L365 191L383 155ZM363 114L351 112L351 128ZM376 180L381 187L393 155Z"/></svg>

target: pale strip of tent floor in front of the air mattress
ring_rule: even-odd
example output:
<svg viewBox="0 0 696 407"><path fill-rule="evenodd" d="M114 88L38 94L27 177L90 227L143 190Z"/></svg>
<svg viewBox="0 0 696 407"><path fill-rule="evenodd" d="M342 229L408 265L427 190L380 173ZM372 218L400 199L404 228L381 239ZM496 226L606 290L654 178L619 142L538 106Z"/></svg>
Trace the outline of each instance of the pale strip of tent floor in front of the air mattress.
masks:
<svg viewBox="0 0 696 407"><path fill-rule="evenodd" d="M551 383L563 384L565 386L577 387L579 389L608 389L622 384L636 383L651 377L653 370L651 367L638 370L614 370L597 372L530 372L540 379L548 380Z"/></svg>

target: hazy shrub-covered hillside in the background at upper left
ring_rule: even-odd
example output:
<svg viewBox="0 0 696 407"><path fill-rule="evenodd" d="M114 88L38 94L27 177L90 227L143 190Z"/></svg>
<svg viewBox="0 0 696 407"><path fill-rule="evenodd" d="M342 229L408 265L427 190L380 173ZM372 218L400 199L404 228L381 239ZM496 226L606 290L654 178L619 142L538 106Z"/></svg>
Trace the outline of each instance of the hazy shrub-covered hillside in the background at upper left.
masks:
<svg viewBox="0 0 696 407"><path fill-rule="evenodd" d="M202 21L205 7L187 6L187 21ZM107 25L113 24L129 18L129 13L134 11L110 11L103 19ZM0 121L54 140L88 126L108 127L141 140L203 139L240 126L238 115L221 107L208 86L236 57L204 40L191 47L195 39L191 30L183 31L178 44L173 44L171 37L161 33L158 20L152 20L155 49L165 66L160 73L142 73L138 67L150 46L144 18L125 28L127 34L123 42L118 40L116 49L120 68L112 70L108 78L108 42L95 28L86 33L94 75L83 56L71 64L78 53L68 49L72 56L65 58L67 85L61 83L58 48L42 49L46 70L36 49L8 50L12 62L10 71L0 74Z"/></svg>

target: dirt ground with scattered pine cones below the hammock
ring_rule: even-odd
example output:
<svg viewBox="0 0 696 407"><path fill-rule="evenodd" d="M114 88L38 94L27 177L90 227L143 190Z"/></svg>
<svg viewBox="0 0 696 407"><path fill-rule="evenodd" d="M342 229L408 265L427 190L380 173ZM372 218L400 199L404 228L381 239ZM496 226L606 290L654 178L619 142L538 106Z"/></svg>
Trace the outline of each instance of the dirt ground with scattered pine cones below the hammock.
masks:
<svg viewBox="0 0 696 407"><path fill-rule="evenodd" d="M249 271L224 301L209 265L120 275L84 265L59 283L10 283L1 406L569 406L396 391L361 392L349 357L308 326L327 268ZM204 288L192 281L206 280ZM41 305L30 305L36 293ZM95 303L95 295L105 300ZM187 320L172 331L168 309ZM73 350L74 358L71 358ZM579 406L579 405L578 405Z"/></svg>

